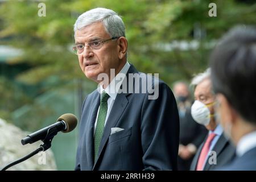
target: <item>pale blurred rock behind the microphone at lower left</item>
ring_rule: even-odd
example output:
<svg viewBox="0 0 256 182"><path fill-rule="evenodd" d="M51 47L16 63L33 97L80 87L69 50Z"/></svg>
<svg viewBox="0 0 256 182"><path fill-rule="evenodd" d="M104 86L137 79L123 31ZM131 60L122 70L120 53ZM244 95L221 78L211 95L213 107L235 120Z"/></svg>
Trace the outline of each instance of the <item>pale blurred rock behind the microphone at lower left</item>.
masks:
<svg viewBox="0 0 256 182"><path fill-rule="evenodd" d="M0 169L14 160L30 154L42 144L40 141L23 146L20 140L27 135L27 132L20 130L18 127L0 118ZM56 163L53 152L48 149L45 152L39 152L39 154L32 156L32 158L16 164L7 170L56 170Z"/></svg>

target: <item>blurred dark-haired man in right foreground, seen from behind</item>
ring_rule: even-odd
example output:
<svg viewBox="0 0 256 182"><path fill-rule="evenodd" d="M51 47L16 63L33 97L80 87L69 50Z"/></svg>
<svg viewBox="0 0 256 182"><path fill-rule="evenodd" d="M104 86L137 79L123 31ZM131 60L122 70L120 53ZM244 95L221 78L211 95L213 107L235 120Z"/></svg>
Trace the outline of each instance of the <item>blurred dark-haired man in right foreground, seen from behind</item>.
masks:
<svg viewBox="0 0 256 182"><path fill-rule="evenodd" d="M210 57L217 111L237 157L216 170L256 170L256 28L235 27Z"/></svg>

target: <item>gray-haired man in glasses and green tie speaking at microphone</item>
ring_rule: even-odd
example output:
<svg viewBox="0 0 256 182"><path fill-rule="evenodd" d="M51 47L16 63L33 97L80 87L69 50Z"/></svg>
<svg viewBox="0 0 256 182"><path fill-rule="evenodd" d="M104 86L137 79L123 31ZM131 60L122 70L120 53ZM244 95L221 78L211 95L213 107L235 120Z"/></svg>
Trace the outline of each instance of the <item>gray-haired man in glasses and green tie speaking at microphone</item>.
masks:
<svg viewBox="0 0 256 182"><path fill-rule="evenodd" d="M76 170L176 170L174 95L127 62L122 19L97 8L80 15L74 31L80 67L99 84L82 105Z"/></svg>

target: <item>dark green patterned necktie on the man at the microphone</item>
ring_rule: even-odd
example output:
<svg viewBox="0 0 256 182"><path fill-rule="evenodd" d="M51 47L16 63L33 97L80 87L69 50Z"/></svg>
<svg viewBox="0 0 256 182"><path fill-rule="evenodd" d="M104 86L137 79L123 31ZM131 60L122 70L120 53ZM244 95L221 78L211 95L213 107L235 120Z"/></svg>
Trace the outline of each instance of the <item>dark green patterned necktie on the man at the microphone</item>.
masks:
<svg viewBox="0 0 256 182"><path fill-rule="evenodd" d="M108 111L108 98L109 95L103 91L101 93L100 110L98 111L97 126L94 134L94 162L98 157L98 148L100 147L101 138L105 126L106 114Z"/></svg>

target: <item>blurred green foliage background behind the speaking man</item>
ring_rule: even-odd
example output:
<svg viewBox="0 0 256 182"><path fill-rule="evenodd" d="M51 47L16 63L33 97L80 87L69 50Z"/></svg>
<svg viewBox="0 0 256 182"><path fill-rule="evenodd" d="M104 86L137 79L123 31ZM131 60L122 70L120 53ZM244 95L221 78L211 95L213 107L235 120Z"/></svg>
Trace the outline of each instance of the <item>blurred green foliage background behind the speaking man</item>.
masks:
<svg viewBox="0 0 256 182"><path fill-rule="evenodd" d="M38 16L40 2L46 16ZM216 17L208 14L212 2ZM253 0L0 1L0 118L35 131L64 113L80 117L82 101L97 85L85 78L71 51L73 24L94 7L122 16L129 62L141 72L159 73L170 86L204 71L210 50L230 27L256 23ZM77 129L53 139L59 170L75 167Z"/></svg>

